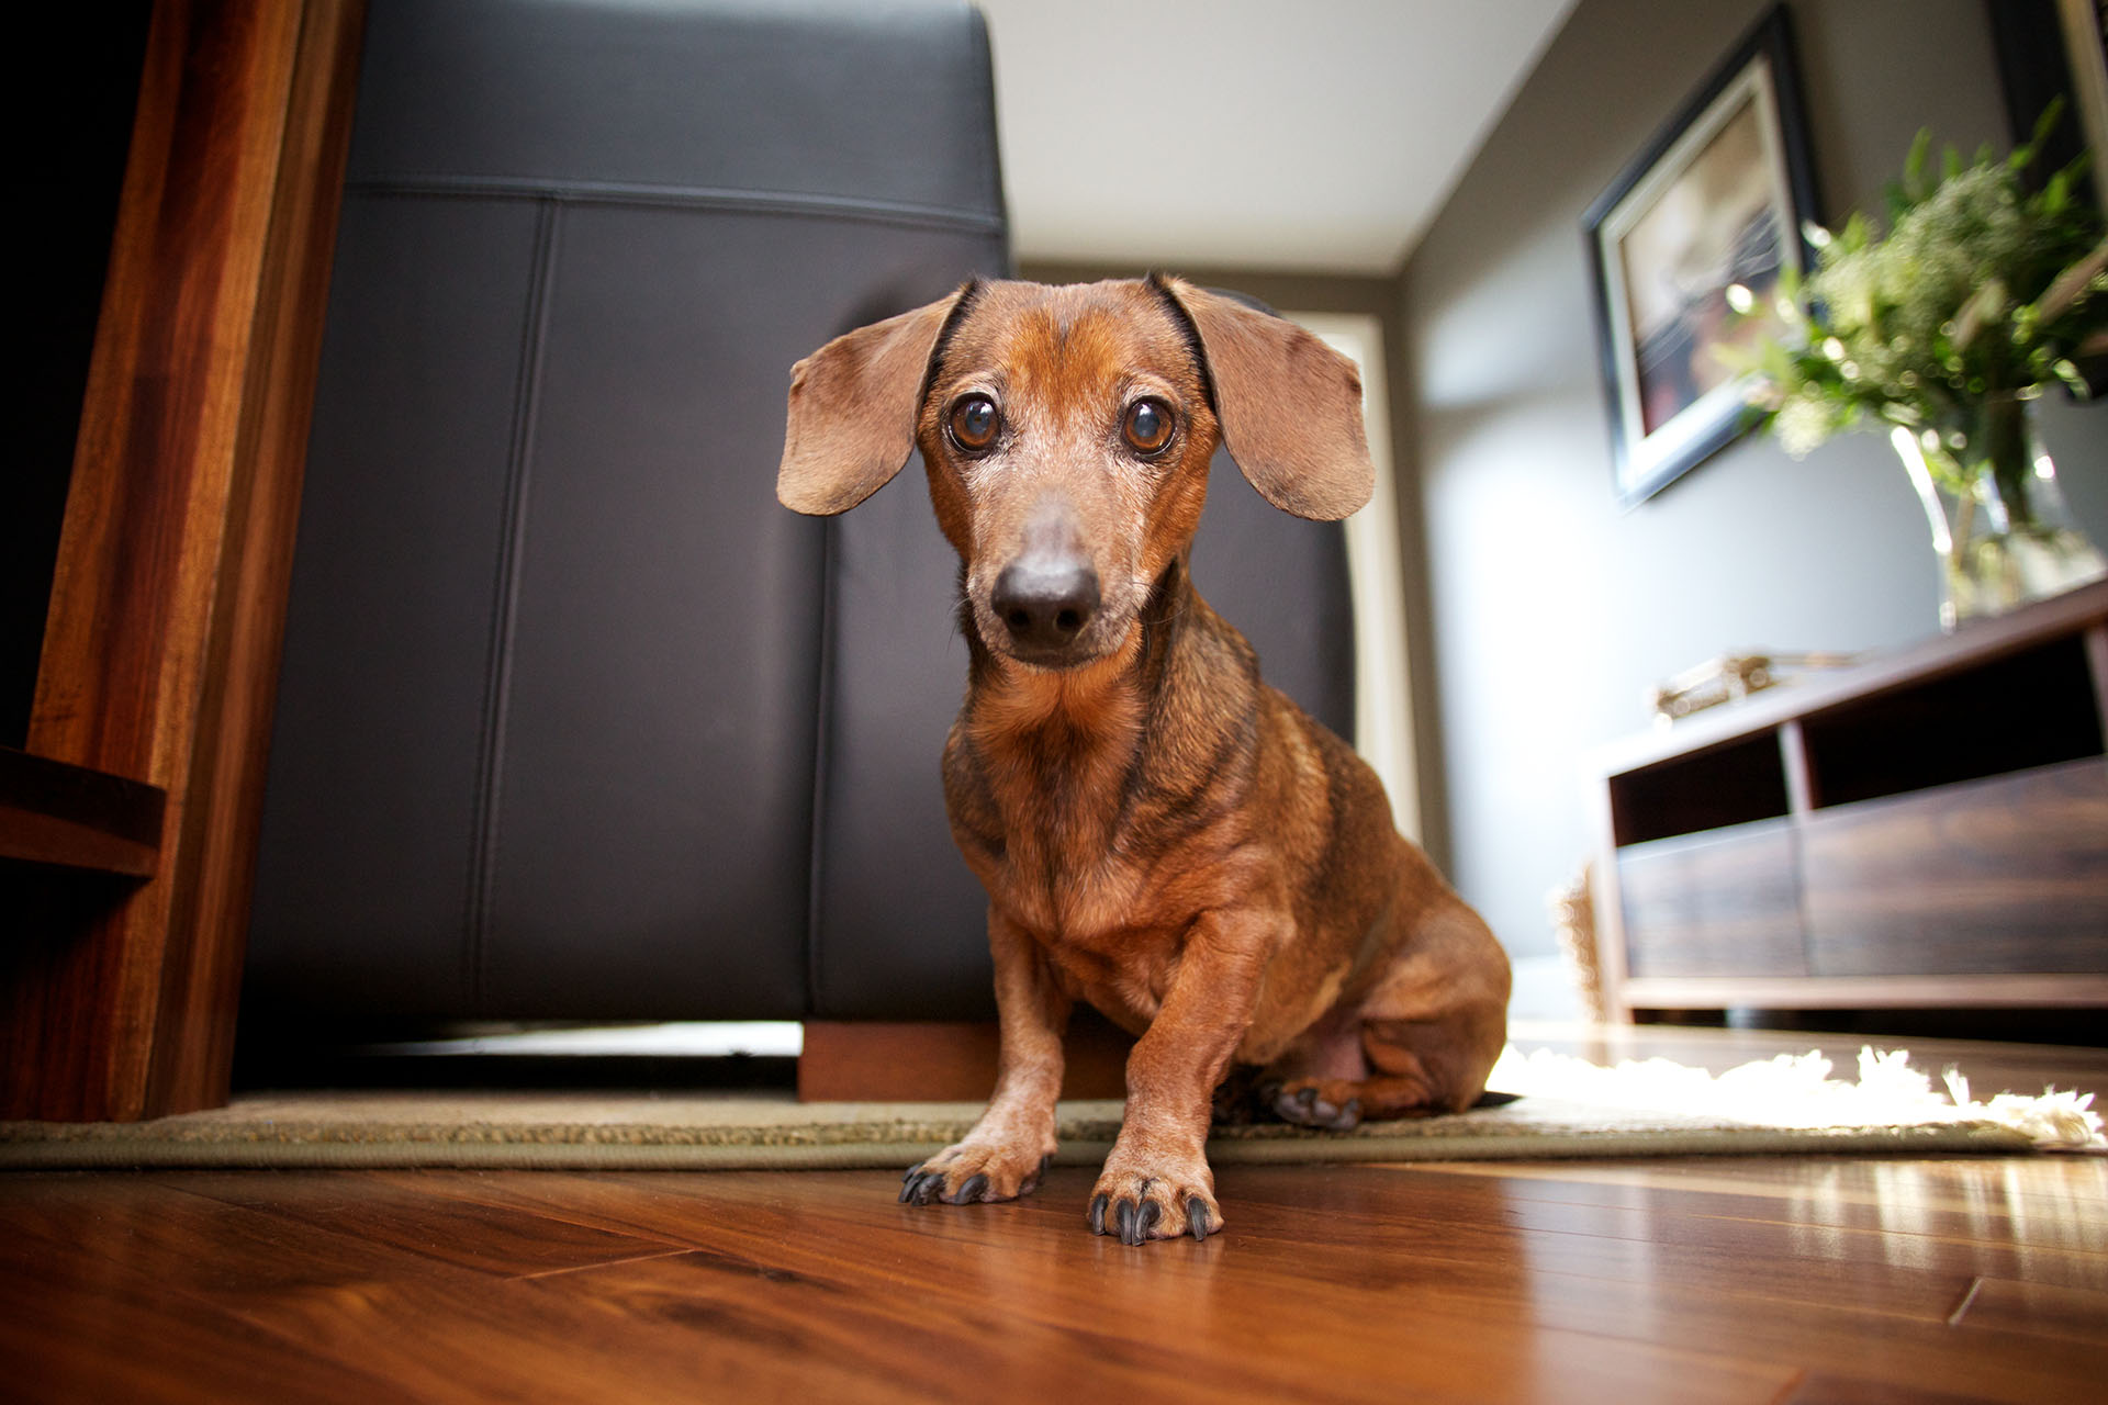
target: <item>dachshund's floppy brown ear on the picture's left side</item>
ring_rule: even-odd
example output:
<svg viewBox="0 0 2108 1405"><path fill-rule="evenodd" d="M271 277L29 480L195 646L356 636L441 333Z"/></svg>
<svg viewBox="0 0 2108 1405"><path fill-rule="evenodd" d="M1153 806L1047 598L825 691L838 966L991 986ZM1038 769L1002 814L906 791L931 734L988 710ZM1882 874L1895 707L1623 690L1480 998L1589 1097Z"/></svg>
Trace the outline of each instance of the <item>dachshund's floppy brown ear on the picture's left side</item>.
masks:
<svg viewBox="0 0 2108 1405"><path fill-rule="evenodd" d="M776 499L793 512L833 516L883 489L915 451L930 352L953 293L928 308L858 326L790 369L790 417Z"/></svg>

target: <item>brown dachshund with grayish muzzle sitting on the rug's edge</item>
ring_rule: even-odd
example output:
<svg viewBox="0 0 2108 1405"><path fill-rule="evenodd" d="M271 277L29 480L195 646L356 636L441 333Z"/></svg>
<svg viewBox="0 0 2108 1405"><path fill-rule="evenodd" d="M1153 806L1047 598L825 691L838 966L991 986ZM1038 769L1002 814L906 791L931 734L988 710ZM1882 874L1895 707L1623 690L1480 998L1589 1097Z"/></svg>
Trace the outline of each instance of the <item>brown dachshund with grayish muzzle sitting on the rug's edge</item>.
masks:
<svg viewBox="0 0 2108 1405"><path fill-rule="evenodd" d="M921 447L963 567L944 798L989 889L1001 1062L902 1201L1039 1184L1077 998L1138 1034L1090 1201L1130 1245L1223 1226L1227 1079L1345 1129L1467 1108L1501 1053L1499 942L1187 577L1218 438L1296 516L1372 491L1353 364L1180 280L972 282L793 371L784 506L847 512Z"/></svg>

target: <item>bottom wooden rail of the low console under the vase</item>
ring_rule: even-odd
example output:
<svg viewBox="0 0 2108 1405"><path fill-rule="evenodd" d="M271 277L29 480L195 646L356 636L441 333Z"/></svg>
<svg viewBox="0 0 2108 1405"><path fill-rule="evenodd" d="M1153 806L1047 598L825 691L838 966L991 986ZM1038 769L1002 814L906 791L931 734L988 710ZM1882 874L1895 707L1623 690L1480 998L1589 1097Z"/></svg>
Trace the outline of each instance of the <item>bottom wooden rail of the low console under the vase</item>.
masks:
<svg viewBox="0 0 2108 1405"><path fill-rule="evenodd" d="M1998 975L1642 975L1619 988L1634 1009L2108 1007L2108 973Z"/></svg>

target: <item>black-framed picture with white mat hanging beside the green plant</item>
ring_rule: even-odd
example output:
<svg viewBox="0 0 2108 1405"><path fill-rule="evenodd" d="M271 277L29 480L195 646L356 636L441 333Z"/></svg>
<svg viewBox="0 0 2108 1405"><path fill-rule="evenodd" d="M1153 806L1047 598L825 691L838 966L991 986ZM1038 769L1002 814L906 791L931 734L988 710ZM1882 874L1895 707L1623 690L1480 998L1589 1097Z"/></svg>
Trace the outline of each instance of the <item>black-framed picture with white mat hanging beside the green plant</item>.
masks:
<svg viewBox="0 0 2108 1405"><path fill-rule="evenodd" d="M1779 274L1807 268L1815 206L1792 29L1773 6L1585 217L1625 508L1748 428L1722 352L1777 329L1764 310Z"/></svg>

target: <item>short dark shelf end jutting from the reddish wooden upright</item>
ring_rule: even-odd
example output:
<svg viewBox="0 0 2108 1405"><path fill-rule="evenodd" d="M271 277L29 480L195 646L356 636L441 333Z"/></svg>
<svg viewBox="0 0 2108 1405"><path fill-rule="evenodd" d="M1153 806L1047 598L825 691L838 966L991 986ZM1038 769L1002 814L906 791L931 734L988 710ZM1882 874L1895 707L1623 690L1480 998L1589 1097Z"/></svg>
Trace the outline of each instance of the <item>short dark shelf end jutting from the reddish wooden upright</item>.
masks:
<svg viewBox="0 0 2108 1405"><path fill-rule="evenodd" d="M0 859L152 878L167 805L158 786L0 748Z"/></svg>

